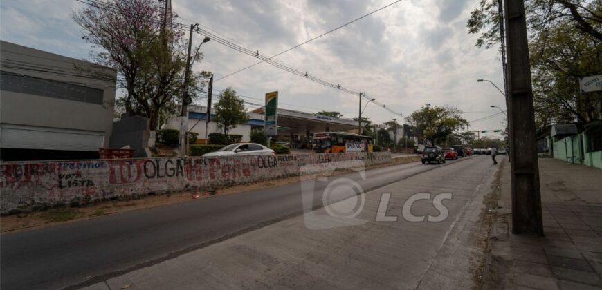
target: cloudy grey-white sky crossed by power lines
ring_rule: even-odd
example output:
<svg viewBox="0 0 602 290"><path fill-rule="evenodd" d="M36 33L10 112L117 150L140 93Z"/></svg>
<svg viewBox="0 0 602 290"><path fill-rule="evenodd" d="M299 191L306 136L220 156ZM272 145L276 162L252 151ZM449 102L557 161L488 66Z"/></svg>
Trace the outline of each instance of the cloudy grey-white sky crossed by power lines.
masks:
<svg viewBox="0 0 602 290"><path fill-rule="evenodd" d="M181 23L199 23L221 37L262 55L275 55L393 0L173 0ZM347 88L364 91L388 108L410 115L423 104L450 104L469 121L498 113L504 97L499 56L474 46L466 20L477 0L403 0L345 28L276 57L287 66ZM75 58L89 56L91 46L69 17L84 4L75 0L3 0L0 39ZM195 35L195 43L201 36ZM195 70L216 79L254 64L257 59L222 46L203 44L205 58ZM259 64L221 79L215 88L234 88L246 101L261 102L280 92L280 106L315 113L338 110L356 117L358 97ZM249 105L249 108L253 108ZM369 104L364 113L376 122L399 115ZM471 123L471 130L500 129L503 115ZM497 136L497 134L489 134Z"/></svg>

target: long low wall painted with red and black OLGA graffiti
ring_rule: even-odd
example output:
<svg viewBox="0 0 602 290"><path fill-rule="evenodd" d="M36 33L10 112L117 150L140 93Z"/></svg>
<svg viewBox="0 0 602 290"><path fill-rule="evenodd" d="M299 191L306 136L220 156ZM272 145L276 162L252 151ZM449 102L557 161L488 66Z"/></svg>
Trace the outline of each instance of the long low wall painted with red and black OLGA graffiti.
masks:
<svg viewBox="0 0 602 290"><path fill-rule="evenodd" d="M0 212L218 189L299 175L307 166L320 172L390 161L390 153L383 152L1 163Z"/></svg>

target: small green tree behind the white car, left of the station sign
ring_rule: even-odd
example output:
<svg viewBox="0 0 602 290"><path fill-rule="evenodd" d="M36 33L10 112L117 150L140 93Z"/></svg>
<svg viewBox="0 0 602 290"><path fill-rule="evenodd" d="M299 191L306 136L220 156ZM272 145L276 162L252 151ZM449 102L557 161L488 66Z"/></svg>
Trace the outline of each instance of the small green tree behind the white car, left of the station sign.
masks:
<svg viewBox="0 0 602 290"><path fill-rule="evenodd" d="M244 101L236 95L232 88L226 88L219 93L219 101L213 108L215 112L214 121L224 130L224 135L237 125L245 124L248 116L244 110Z"/></svg>

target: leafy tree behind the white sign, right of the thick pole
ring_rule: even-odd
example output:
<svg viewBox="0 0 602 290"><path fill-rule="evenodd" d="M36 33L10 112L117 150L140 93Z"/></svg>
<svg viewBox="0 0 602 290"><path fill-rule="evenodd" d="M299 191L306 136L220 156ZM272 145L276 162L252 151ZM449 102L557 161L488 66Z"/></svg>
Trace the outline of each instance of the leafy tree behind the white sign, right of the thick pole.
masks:
<svg viewBox="0 0 602 290"><path fill-rule="evenodd" d="M602 42L568 23L531 41L536 124L588 123L598 119L602 94L579 93L579 79L602 71Z"/></svg>

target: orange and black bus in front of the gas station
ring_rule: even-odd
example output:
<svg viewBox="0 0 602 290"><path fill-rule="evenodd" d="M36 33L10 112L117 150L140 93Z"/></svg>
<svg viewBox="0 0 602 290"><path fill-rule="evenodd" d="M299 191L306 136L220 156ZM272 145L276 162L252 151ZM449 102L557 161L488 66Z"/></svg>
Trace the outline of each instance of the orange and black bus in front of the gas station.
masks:
<svg viewBox="0 0 602 290"><path fill-rule="evenodd" d="M313 152L372 152L372 137L343 132L313 134Z"/></svg>

